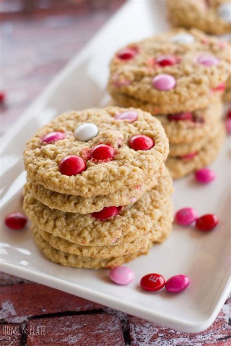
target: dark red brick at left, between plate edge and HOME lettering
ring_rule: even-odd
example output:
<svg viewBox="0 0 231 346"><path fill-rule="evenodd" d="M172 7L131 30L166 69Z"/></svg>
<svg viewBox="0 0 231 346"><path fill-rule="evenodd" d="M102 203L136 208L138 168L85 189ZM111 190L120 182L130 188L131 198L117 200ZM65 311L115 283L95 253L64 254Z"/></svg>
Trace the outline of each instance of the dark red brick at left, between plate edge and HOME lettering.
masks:
<svg viewBox="0 0 231 346"><path fill-rule="evenodd" d="M101 305L37 283L0 287L0 319L16 321L28 317L65 311L87 311ZM23 321L23 319L21 320Z"/></svg>

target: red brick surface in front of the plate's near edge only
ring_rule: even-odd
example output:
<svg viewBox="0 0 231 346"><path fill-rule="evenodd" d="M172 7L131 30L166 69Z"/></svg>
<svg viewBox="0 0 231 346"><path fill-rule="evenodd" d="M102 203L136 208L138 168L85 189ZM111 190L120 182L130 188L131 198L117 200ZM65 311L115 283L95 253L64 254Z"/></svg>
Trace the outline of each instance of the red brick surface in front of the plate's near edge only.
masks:
<svg viewBox="0 0 231 346"><path fill-rule="evenodd" d="M229 306L197 334L173 329L86 301L56 289L0 274L0 345L231 345ZM19 326L4 335L4 326Z"/></svg>

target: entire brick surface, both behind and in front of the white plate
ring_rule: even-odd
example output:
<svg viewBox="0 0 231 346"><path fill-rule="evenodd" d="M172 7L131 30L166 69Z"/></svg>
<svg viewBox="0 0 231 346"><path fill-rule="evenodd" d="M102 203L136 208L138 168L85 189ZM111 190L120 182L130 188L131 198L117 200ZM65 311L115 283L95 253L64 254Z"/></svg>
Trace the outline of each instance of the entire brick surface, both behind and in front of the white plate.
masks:
<svg viewBox="0 0 231 346"><path fill-rule="evenodd" d="M1 133L122 2L0 0L1 88L6 94ZM231 299L212 327L197 334L176 332L3 273L0 301L2 346L231 345ZM4 332L6 326L11 335Z"/></svg>

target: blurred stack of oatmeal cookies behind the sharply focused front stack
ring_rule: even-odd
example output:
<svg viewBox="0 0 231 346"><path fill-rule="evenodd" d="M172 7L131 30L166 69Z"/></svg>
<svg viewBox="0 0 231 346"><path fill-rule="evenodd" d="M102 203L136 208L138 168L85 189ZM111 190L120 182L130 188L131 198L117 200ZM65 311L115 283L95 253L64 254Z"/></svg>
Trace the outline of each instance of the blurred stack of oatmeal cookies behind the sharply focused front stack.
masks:
<svg viewBox="0 0 231 346"><path fill-rule="evenodd" d="M228 43L178 28L120 49L108 89L119 106L161 121L170 142L166 165L179 178L210 164L221 148L221 96L230 72Z"/></svg>

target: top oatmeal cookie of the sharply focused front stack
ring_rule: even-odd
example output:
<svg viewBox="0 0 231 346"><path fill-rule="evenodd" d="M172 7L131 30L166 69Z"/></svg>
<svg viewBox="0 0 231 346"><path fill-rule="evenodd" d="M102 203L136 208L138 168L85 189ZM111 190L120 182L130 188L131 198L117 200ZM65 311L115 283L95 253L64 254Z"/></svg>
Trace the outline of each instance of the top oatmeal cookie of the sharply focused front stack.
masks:
<svg viewBox="0 0 231 346"><path fill-rule="evenodd" d="M151 114L92 108L60 115L27 143L29 179L60 194L91 197L134 187L157 173L168 138Z"/></svg>

